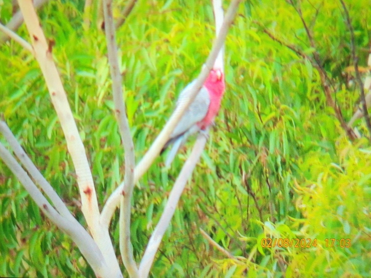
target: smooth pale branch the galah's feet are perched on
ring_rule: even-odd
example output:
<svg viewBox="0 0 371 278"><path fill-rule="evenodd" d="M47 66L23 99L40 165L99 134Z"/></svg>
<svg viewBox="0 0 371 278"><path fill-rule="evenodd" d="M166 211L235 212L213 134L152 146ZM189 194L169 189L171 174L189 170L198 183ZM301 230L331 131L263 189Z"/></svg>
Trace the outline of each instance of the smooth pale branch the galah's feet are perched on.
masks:
<svg viewBox="0 0 371 278"><path fill-rule="evenodd" d="M209 131L207 131L207 133L208 132ZM144 255L139 265L139 277L148 277L148 274L150 273L150 269L157 253L158 246L160 246L162 240L162 236L164 236L165 231L171 221L171 218L174 215L175 208L177 207L179 198L184 190L184 186L186 185L188 178L192 174L193 169L201 156L201 153L206 144L206 140L207 138L205 135L201 133L198 135L192 152L187 161L184 163L184 166L174 183L173 189L171 189L168 201L164 208L164 212L162 212L161 218L152 233L150 241L148 242L147 248L145 249Z"/></svg>

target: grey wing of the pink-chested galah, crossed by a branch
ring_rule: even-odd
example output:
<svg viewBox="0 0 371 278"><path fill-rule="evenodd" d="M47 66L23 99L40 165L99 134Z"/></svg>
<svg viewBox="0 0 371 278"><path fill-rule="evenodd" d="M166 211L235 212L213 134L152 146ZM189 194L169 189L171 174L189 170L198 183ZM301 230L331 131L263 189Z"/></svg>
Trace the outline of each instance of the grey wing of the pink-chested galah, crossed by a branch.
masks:
<svg viewBox="0 0 371 278"><path fill-rule="evenodd" d="M196 82L196 80L193 80L191 83L189 83L180 93L177 100L177 106L185 99L187 99L187 97L189 97L190 88L194 84L194 82ZM209 104L209 92L207 92L207 89L203 86L201 87L193 102L190 104L190 106L188 106L188 109L184 112L183 117L178 122L170 137L177 137L178 135L190 129L194 124L202 120L206 116L207 110L209 109Z"/></svg>

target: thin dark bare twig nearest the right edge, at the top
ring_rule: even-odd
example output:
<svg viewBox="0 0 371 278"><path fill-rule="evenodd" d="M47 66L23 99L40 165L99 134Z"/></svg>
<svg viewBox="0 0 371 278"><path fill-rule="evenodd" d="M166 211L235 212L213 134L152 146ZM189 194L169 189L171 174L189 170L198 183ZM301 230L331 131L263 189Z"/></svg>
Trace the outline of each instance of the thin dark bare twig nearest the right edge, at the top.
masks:
<svg viewBox="0 0 371 278"><path fill-rule="evenodd" d="M355 43L354 43L354 32L352 23L350 21L349 12L347 9L347 6L345 6L345 3L343 0L340 0L341 6L343 6L344 14L345 14L345 23L347 24L347 27L350 32L350 47L351 47L351 54L353 59L353 65L354 65L354 71L355 71L355 79L357 80L359 89L361 90L361 101L362 101L362 112L363 116L365 118L365 122L367 125L368 132L370 133L370 142L371 142L371 121L370 121L370 115L368 115L367 111L367 103L366 103L366 96L365 96L365 90L364 85L362 84L361 75L359 74L358 70L358 57L355 54Z"/></svg>

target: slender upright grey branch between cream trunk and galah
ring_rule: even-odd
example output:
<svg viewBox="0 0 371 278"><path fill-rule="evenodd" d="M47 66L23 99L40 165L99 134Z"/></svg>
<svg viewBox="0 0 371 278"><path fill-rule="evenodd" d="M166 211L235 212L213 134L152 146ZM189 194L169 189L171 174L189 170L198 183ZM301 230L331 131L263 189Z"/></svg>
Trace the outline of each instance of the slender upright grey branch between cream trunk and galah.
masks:
<svg viewBox="0 0 371 278"><path fill-rule="evenodd" d="M122 145L125 150L125 178L124 191L122 192L120 209L120 252L122 261L130 277L138 277L138 267L133 257L130 241L130 216L131 196L134 189L134 143L130 133L129 121L126 116L126 107L122 99L122 78L117 60L117 45L115 40L115 27L112 17L112 0L103 0L103 11L105 20L105 33L107 42L108 60L112 77L112 94L114 98L115 116L121 135ZM108 219L103 219L108 220ZM108 222L107 227L108 227Z"/></svg>

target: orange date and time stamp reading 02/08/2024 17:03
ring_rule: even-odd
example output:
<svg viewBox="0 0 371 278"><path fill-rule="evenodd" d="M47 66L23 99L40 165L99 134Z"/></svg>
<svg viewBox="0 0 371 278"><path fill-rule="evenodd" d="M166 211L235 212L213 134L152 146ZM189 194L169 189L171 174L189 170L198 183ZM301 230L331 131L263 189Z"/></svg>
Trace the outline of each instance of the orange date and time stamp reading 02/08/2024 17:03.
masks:
<svg viewBox="0 0 371 278"><path fill-rule="evenodd" d="M271 247L295 247L295 248L310 248L317 246L317 239L311 238L262 238L260 245L264 248ZM349 238L325 238L325 247L341 247L349 248L351 242Z"/></svg>

